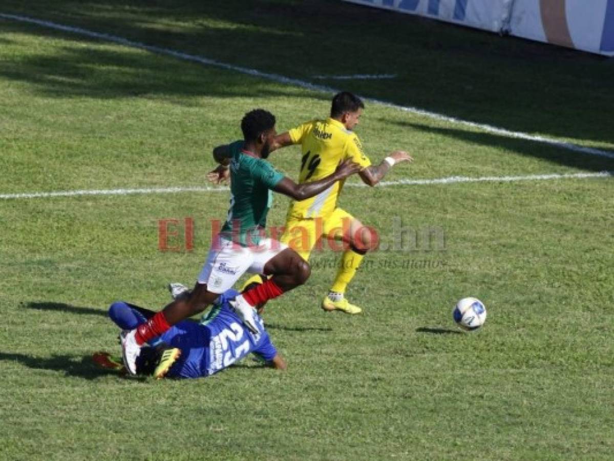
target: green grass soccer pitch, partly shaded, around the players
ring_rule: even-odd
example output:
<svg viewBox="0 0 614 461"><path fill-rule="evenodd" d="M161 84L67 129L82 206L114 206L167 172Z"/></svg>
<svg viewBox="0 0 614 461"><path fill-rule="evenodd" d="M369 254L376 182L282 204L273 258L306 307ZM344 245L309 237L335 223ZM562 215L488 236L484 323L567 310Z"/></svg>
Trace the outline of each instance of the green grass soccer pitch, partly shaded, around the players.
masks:
<svg viewBox="0 0 614 461"><path fill-rule="evenodd" d="M613 68L595 56L324 0L6 0L0 13L614 151ZM311 80L381 72L398 77ZM244 112L273 111L281 131L329 99L0 19L0 194L206 185ZM374 162L414 155L387 180L614 171L378 104L357 133ZM271 161L296 177L299 150ZM0 200L0 459L611 459L613 196L608 178L348 187L340 205L383 239L402 219L443 230L445 247L368 255L351 317L319 309L337 255L314 254L308 284L265 315L286 373L246 360L161 382L91 364L119 352L106 308L160 309L169 281L192 284L228 193ZM269 222L286 207L276 198ZM194 250L160 252L158 220L184 217ZM474 334L451 319L464 296L488 308Z"/></svg>

